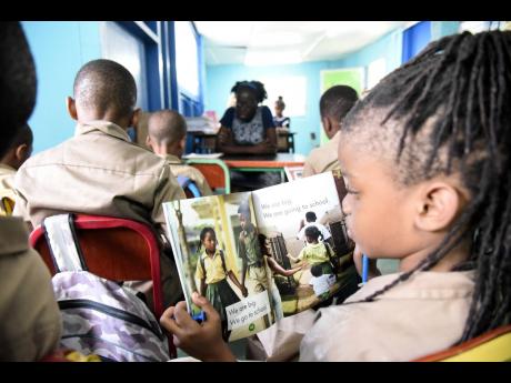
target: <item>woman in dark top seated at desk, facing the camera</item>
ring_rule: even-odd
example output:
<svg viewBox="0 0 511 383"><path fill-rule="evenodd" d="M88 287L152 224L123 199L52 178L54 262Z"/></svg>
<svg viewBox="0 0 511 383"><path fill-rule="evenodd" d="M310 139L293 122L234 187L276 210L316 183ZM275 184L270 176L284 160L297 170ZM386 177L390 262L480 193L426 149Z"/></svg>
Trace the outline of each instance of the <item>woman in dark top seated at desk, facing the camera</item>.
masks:
<svg viewBox="0 0 511 383"><path fill-rule="evenodd" d="M237 82L236 108L229 108L220 120L218 151L226 154L264 155L277 153L277 134L273 117L265 105L264 85L259 81ZM231 171L236 191L248 191L280 183L280 174Z"/></svg>

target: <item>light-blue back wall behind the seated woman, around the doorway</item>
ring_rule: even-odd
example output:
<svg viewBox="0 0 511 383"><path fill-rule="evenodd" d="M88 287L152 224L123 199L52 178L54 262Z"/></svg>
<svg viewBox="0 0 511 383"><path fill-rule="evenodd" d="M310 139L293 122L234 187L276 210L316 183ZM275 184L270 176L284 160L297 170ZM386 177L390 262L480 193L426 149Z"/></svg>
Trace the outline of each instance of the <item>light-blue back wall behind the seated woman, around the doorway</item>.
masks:
<svg viewBox="0 0 511 383"><path fill-rule="evenodd" d="M384 57L387 70L401 64L401 30L380 38L363 49L349 53L335 61L312 61L292 65L246 67L243 64L207 65L206 69L206 110L214 110L219 119L226 111L226 102L232 85L241 80L257 80L261 77L304 75L307 78L307 110L303 117L292 118L291 131L295 135L297 153L308 154L319 145L321 120L319 113L320 71L325 69L364 67L371 61ZM271 109L271 108L270 108ZM310 133L315 133L311 140Z"/></svg>

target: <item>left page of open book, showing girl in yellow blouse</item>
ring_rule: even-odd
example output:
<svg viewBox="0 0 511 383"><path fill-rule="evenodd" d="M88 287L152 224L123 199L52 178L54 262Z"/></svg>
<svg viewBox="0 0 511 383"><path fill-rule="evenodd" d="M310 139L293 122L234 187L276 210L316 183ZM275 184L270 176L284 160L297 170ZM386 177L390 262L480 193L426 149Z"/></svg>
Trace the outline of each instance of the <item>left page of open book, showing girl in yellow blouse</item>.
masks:
<svg viewBox="0 0 511 383"><path fill-rule="evenodd" d="M204 295L229 341L273 324L251 193L166 202L163 211L189 312L200 312L192 292Z"/></svg>

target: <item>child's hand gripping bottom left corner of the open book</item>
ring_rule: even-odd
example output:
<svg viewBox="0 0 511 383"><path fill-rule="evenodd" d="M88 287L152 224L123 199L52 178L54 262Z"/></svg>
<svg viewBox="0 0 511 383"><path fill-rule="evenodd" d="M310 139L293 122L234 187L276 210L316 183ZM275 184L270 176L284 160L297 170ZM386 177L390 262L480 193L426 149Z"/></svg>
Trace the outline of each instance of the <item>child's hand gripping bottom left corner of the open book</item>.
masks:
<svg viewBox="0 0 511 383"><path fill-rule="evenodd" d="M174 344L190 356L204 362L236 362L236 356L222 340L219 313L198 293L192 294L192 301L206 313L204 322L199 324L193 321L186 302L179 302L164 311L160 324L173 334Z"/></svg>

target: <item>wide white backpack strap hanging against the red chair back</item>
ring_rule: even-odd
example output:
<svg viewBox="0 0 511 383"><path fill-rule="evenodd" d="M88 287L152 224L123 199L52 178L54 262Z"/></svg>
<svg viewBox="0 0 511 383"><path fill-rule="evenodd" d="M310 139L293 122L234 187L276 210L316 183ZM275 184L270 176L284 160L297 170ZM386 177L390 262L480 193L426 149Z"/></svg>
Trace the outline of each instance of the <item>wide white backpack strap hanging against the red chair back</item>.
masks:
<svg viewBox="0 0 511 383"><path fill-rule="evenodd" d="M42 228L57 272L88 270L72 214L48 216L43 220Z"/></svg>

